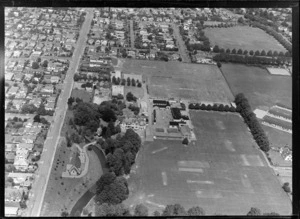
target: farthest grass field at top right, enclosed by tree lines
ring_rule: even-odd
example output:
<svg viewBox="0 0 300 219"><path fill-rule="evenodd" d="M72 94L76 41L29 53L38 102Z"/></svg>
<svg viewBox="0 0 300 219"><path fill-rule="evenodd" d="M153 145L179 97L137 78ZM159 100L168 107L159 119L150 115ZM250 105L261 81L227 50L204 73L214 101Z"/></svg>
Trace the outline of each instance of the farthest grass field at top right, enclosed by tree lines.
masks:
<svg viewBox="0 0 300 219"><path fill-rule="evenodd" d="M236 26L231 28L206 28L205 35L211 44L224 49L283 51L286 49L272 36L259 28ZM255 37L253 37L255 36Z"/></svg>

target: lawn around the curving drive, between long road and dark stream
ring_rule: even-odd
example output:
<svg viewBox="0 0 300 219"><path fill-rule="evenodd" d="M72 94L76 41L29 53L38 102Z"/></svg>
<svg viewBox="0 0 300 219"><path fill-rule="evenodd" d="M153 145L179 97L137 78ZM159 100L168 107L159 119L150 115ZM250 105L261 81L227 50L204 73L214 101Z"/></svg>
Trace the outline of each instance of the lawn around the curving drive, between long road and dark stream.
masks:
<svg viewBox="0 0 300 219"><path fill-rule="evenodd" d="M45 194L41 216L60 216L62 211L70 212L77 200L100 178L102 168L93 151L87 151L89 170L82 178L62 178L66 165L70 162L71 149L65 141L58 146L48 187Z"/></svg>

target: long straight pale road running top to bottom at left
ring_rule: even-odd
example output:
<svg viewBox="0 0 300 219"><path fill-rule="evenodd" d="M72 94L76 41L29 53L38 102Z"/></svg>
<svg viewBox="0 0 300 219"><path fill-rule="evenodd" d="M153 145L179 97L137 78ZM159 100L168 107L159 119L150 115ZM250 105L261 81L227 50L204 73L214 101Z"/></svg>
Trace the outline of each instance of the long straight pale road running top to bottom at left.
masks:
<svg viewBox="0 0 300 219"><path fill-rule="evenodd" d="M41 162L37 173L38 176L34 182L32 189L33 197L30 197L30 201L31 203L33 203L31 205L29 204L30 209L28 215L30 216L41 215L41 209L43 206L44 196L48 185L51 167L53 164L58 141L60 139L60 131L63 126L63 121L68 107L67 100L72 92L72 87L74 83L73 76L76 72L76 69L78 68L81 54L85 49L87 33L89 32L90 24L93 18L92 9L87 9L86 11L86 19L80 31L80 36L77 41L77 46L74 51L73 59L70 62L70 67L67 72L67 76L64 80L64 88L57 102L57 109L54 113L54 122L50 126L47 139L44 143L44 152L41 156Z"/></svg>

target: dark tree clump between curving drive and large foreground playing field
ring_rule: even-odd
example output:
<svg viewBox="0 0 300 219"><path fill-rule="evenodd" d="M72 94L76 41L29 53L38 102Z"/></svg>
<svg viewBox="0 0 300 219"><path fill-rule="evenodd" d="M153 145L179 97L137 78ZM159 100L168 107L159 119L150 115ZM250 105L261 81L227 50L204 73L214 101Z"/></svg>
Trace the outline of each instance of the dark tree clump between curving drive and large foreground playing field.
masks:
<svg viewBox="0 0 300 219"><path fill-rule="evenodd" d="M109 170L121 176L130 173L130 168L141 147L141 139L132 129L127 129L123 136L118 134L116 139L99 140L98 144L106 154Z"/></svg>

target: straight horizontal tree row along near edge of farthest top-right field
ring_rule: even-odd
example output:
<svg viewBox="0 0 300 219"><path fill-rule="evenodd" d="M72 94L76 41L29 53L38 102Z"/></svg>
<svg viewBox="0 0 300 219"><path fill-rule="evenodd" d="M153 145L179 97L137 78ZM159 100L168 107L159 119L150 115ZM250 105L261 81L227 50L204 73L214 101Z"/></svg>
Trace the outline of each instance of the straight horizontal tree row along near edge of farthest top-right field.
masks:
<svg viewBox="0 0 300 219"><path fill-rule="evenodd" d="M264 57L264 56L248 56L234 55L228 53L219 53L213 57L215 62L234 62L242 64L264 64L264 65L283 65L291 63L291 58L285 56Z"/></svg>

